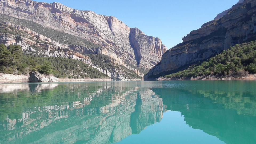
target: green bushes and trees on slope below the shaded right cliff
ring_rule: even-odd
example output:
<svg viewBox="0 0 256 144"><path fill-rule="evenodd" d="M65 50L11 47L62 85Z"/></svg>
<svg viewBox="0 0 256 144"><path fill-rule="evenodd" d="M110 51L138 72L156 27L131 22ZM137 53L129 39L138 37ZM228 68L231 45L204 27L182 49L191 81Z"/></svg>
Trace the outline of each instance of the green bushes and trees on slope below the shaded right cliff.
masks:
<svg viewBox="0 0 256 144"><path fill-rule="evenodd" d="M208 75L256 73L256 41L242 43L222 51L200 65L191 65L188 69L165 75L167 78L190 78Z"/></svg>

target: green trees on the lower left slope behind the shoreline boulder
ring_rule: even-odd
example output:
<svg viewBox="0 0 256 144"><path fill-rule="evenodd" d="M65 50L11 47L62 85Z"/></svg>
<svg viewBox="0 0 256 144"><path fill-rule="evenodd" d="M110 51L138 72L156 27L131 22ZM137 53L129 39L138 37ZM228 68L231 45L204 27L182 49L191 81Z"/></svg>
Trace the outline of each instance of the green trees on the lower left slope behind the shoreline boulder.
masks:
<svg viewBox="0 0 256 144"><path fill-rule="evenodd" d="M0 72L8 74L28 74L38 70L43 74L69 78L105 78L105 74L83 61L61 57L38 57L26 55L19 45L6 47L0 44Z"/></svg>

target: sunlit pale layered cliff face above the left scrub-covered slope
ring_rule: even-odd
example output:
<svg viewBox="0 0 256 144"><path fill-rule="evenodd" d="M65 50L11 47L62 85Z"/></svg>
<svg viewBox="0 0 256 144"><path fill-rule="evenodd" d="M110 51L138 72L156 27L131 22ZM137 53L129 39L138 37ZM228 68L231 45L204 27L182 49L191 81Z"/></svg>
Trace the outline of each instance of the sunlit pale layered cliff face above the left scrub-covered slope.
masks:
<svg viewBox="0 0 256 144"><path fill-rule="evenodd" d="M159 38L130 28L113 16L76 10L60 3L0 0L0 14L26 19L89 40L102 47L94 53L109 55L122 65L138 67L144 73L158 63L167 50Z"/></svg>

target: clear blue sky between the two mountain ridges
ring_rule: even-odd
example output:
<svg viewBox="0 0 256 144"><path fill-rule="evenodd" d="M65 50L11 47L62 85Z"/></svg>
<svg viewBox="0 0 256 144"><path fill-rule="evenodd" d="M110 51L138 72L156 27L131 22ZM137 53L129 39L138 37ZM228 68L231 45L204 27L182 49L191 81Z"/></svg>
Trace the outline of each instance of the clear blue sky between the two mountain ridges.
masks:
<svg viewBox="0 0 256 144"><path fill-rule="evenodd" d="M37 0L35 0L37 1ZM39 1L39 0L38 0ZM129 27L159 37L168 49L239 0L40 0L113 15Z"/></svg>

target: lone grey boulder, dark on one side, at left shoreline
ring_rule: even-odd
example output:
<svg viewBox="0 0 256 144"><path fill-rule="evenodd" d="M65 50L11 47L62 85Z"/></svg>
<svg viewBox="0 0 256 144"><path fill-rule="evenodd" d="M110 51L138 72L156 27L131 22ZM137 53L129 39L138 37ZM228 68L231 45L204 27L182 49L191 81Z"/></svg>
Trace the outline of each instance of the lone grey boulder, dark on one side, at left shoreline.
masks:
<svg viewBox="0 0 256 144"><path fill-rule="evenodd" d="M59 79L54 76L45 76L37 71L31 71L28 82L59 82Z"/></svg>

